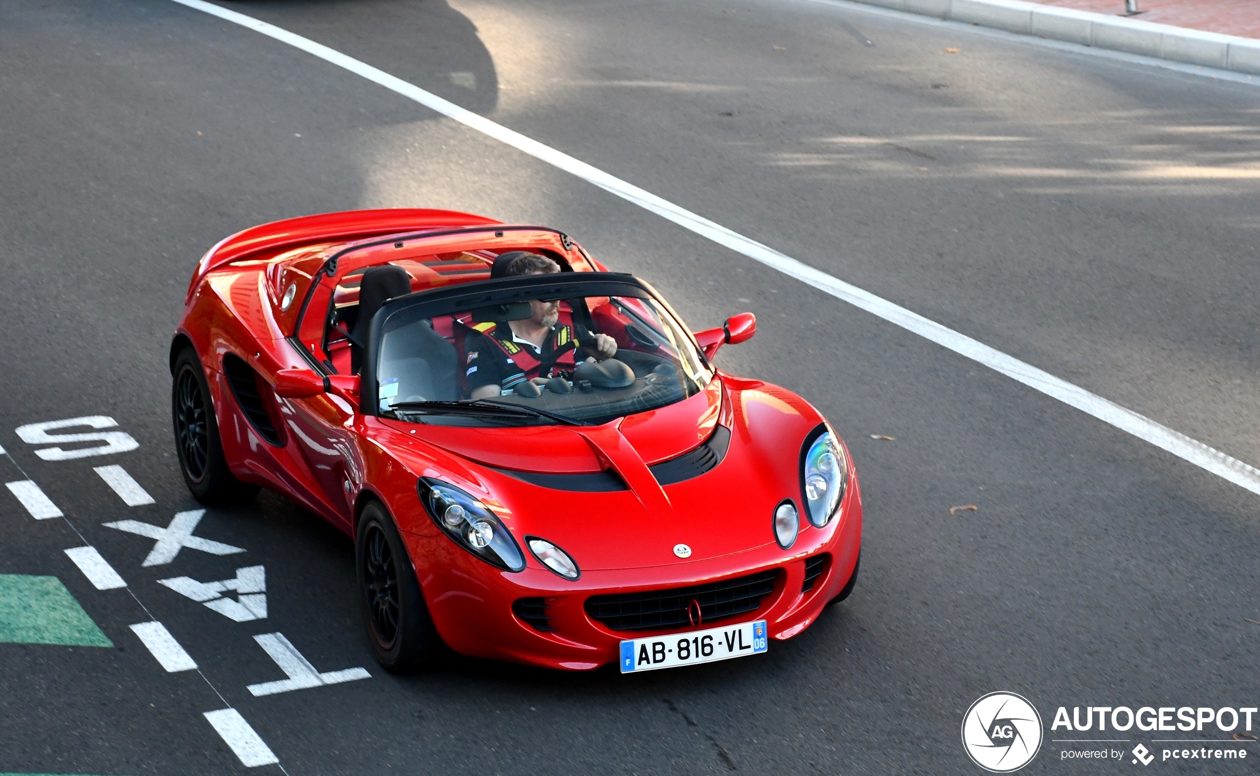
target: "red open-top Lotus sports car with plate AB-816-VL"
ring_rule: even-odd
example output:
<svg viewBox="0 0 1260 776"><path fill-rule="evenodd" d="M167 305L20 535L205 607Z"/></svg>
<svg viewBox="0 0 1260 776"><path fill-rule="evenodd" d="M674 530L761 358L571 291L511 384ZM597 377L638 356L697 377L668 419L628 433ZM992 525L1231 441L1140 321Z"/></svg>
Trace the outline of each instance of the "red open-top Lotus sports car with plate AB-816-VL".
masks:
<svg viewBox="0 0 1260 776"><path fill-rule="evenodd" d="M641 671L765 651L853 590L862 501L800 397L726 374L568 236L449 210L246 229L170 349L193 495L270 488L355 539L368 637Z"/></svg>

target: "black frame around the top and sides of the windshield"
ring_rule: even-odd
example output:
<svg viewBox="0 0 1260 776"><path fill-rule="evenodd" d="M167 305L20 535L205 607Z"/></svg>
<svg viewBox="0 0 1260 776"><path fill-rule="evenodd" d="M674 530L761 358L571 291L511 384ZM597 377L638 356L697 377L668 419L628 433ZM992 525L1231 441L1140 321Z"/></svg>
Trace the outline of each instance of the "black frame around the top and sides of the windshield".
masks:
<svg viewBox="0 0 1260 776"><path fill-rule="evenodd" d="M363 354L363 367L359 372L359 396L375 397L377 362L381 341L387 331L415 322L420 319L450 315L472 307L489 307L510 302L524 302L537 299L573 299L591 296L629 296L651 299L659 304L679 324L679 329L696 349L696 354L709 372L713 367L704 358L704 350L696 341L696 335L683 325L674 309L646 281L622 272L553 272L549 275L525 275L481 280L428 291L417 291L407 296L389 300L381 306L368 328L368 341ZM360 401L362 414L379 416L378 402Z"/></svg>

